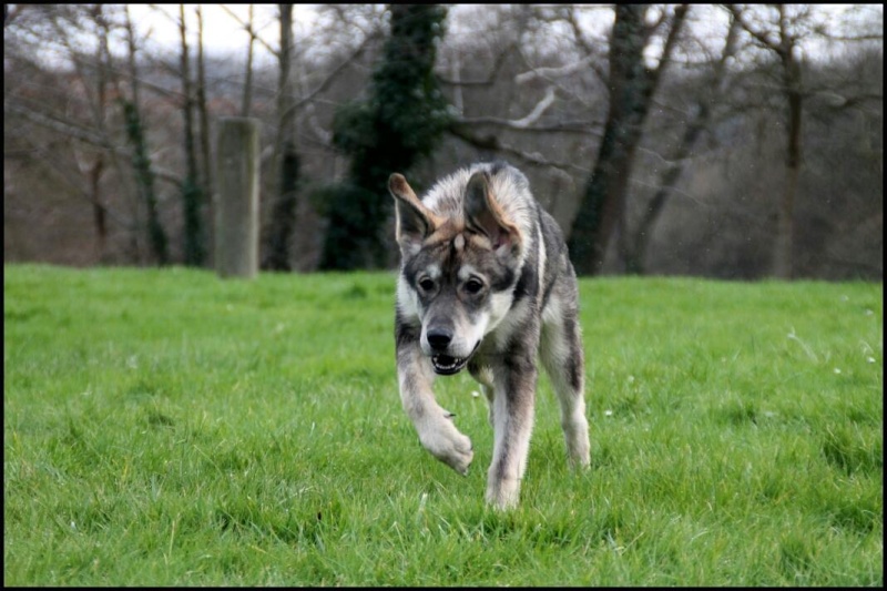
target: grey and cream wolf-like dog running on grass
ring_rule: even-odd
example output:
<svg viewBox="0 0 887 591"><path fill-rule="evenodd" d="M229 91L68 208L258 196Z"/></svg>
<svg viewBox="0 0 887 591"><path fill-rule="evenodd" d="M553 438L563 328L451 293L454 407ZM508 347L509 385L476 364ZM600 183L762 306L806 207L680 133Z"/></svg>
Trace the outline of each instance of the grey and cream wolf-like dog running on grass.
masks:
<svg viewBox="0 0 887 591"><path fill-rule="evenodd" d="M394 173L400 249L395 345L400 399L422 446L461 475L471 440L435 400L436 376L465 368L493 428L486 501L516 507L533 427L537 357L561 409L569 463L589 466L579 287L563 235L508 163L479 163L424 198Z"/></svg>

